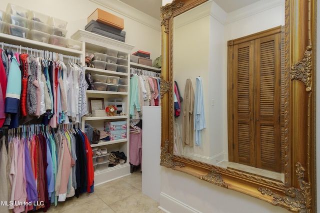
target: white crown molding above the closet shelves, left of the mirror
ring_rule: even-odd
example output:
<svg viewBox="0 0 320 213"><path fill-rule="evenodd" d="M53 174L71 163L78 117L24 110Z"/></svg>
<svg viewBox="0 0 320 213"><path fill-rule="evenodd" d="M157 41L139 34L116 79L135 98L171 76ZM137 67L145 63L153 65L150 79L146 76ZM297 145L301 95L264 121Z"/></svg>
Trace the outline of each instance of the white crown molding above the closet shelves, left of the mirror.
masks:
<svg viewBox="0 0 320 213"><path fill-rule="evenodd" d="M104 6L112 11L115 11L125 17L128 17L132 20L135 20L139 23L142 23L152 29L161 31L160 20L141 12L140 10L129 6L126 3L123 3L119 0L89 0L101 6ZM159 8L160 10L160 8Z"/></svg>

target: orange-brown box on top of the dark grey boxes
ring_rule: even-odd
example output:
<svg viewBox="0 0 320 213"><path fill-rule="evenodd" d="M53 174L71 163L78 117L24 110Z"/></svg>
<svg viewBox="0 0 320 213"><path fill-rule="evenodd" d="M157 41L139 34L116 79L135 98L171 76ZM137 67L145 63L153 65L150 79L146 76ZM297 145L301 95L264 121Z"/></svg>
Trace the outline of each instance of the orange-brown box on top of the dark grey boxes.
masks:
<svg viewBox="0 0 320 213"><path fill-rule="evenodd" d="M87 22L95 20L109 26L113 26L117 29L124 29L124 20L116 15L106 12L102 9L97 8L94 12L89 15Z"/></svg>

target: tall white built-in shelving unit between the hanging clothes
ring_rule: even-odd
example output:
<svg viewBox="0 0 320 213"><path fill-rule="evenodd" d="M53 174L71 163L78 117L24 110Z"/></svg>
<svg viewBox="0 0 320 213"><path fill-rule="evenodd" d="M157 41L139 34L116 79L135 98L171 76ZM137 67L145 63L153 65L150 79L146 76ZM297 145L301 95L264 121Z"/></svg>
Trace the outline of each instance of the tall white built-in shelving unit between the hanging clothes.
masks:
<svg viewBox="0 0 320 213"><path fill-rule="evenodd" d="M82 63L85 62L85 52L95 53L101 52L106 48L115 49L121 52L125 52L128 54L128 64L127 64L127 72L116 72L109 71L104 69L97 69L86 67L86 73L91 74L99 74L106 76L119 76L120 78L127 79L127 92L110 92L110 91L96 91L96 90L87 90L86 95L87 98L103 98L104 106L107 107L107 101L109 98L121 98L124 103L124 112L125 116L113 116L113 117L83 117L82 118L82 129L84 130L84 124L89 123L91 126L103 130L105 121L126 121L127 124L127 138L120 140L110 140L105 142L99 142L97 144L92 144L91 147L107 148L108 152L111 151L119 151L123 152L126 156L126 162L123 165L116 165L114 167L106 167L103 169L97 169L94 172L94 185L102 184L108 182L110 180L120 178L122 176L126 176L130 174L130 164L129 164L129 88L130 88L130 53L134 46L120 42L111 38L107 38L101 35L97 35L85 30L79 29L73 35L71 35L72 39L82 41ZM123 109L122 109L123 111Z"/></svg>

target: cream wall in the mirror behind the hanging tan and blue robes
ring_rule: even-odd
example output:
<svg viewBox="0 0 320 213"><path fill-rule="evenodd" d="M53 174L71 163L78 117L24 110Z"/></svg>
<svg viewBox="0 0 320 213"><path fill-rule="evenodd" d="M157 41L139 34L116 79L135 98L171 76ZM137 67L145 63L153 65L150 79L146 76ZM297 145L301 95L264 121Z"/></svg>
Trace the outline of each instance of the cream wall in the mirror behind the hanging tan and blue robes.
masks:
<svg viewBox="0 0 320 213"><path fill-rule="evenodd" d="M202 6L202 5L201 5ZM204 7L205 8L205 7ZM203 10L203 9L202 9ZM209 10L210 11L210 10ZM173 25L173 76L179 86L179 91L184 97L184 88L186 79L189 78L192 82L193 91L195 94L195 79L200 76L202 78L203 97L204 97L204 115L208 115L207 97L209 94L209 40L210 40L210 16L209 11L204 16L199 15L197 9L189 10L179 16L174 17ZM187 19L187 20L186 20ZM186 101L181 102L181 107L186 104ZM193 114L194 115L194 114ZM180 126L182 133L182 117L180 116L176 122ZM193 147L185 146L184 155L196 160L207 162L209 153L208 134L209 121L206 121L206 129L202 130L201 145ZM193 129L193 126L191 127ZM200 157L201 159L198 159ZM207 157L207 159L206 159Z"/></svg>

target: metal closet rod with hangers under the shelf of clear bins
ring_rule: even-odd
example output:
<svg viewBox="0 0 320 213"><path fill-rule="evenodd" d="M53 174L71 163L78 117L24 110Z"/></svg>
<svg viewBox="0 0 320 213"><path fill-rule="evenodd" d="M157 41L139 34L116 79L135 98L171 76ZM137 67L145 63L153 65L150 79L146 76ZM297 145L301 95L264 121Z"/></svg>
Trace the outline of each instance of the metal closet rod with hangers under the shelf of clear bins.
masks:
<svg viewBox="0 0 320 213"><path fill-rule="evenodd" d="M62 53L56 53L56 52L51 52L48 50L42 50L42 49L35 49L35 48L30 48L30 47L25 47L25 46L21 46L21 45L14 45L14 44L9 44L9 43L4 43L4 42L0 42L0 46L3 49L3 46L9 47L9 48L16 48L17 52L21 53L22 50L26 51L27 54L34 53L34 55L36 54L36 56L40 56L40 57L47 57L53 60L56 59L60 59L62 58L66 58L68 60L74 60L74 61L78 61L80 63L80 57L76 57L76 56L72 56L72 55L64 55Z"/></svg>

